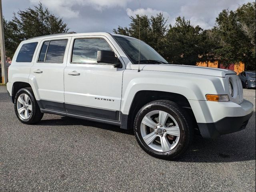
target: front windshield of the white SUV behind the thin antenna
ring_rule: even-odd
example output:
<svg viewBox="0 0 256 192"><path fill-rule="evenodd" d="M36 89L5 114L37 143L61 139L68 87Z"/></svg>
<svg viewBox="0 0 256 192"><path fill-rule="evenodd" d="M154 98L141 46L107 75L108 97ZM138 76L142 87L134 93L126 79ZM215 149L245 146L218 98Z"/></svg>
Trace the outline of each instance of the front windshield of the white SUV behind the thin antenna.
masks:
<svg viewBox="0 0 256 192"><path fill-rule="evenodd" d="M139 63L139 40L126 37L115 36L114 38L123 48L133 64ZM158 52L156 52L148 44L140 41L140 63L168 63Z"/></svg>

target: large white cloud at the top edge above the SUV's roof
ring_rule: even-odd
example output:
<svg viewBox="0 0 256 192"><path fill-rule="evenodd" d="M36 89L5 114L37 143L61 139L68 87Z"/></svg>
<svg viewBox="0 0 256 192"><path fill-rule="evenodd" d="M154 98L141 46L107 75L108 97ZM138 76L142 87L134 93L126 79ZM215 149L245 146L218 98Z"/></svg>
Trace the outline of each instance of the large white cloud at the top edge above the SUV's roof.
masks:
<svg viewBox="0 0 256 192"><path fill-rule="evenodd" d="M49 10L56 12L63 18L77 18L79 11L74 6L90 6L95 10L102 11L106 8L126 7L132 0L40 0ZM39 0L30 0L32 4L38 4ZM84 9L84 11L87 11Z"/></svg>

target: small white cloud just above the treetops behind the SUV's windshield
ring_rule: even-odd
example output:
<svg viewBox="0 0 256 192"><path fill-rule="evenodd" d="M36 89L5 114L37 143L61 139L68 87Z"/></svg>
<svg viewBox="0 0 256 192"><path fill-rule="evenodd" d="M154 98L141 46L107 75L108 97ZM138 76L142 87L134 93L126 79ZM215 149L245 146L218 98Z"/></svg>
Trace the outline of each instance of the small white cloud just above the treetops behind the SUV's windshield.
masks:
<svg viewBox="0 0 256 192"><path fill-rule="evenodd" d="M142 8L142 9L136 9L136 10L131 10L130 8L127 8L126 13L128 16L135 16L137 14L147 15L147 16L156 16L157 14L162 13L166 19L170 18L170 15L167 12L152 9L152 8L146 8L146 9Z"/></svg>

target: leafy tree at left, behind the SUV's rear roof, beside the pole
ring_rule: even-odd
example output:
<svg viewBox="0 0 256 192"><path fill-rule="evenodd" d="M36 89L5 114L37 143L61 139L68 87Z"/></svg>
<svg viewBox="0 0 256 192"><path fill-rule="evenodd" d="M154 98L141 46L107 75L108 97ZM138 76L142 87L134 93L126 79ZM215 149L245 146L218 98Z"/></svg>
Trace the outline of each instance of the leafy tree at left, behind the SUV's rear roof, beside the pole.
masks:
<svg viewBox="0 0 256 192"><path fill-rule="evenodd" d="M19 10L17 14L14 13L12 20L4 20L6 56L12 58L16 48L23 40L67 31L67 24L63 22L62 18L51 14L41 3L34 8Z"/></svg>

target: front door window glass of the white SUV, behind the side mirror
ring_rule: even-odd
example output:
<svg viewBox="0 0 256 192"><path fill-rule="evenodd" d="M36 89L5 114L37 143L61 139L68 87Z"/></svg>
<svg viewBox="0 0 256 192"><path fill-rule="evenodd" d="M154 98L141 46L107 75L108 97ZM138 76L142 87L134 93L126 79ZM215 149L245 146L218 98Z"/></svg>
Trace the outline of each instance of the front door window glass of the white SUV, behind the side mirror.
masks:
<svg viewBox="0 0 256 192"><path fill-rule="evenodd" d="M97 63L98 50L112 51L104 39L75 39L72 62Z"/></svg>

